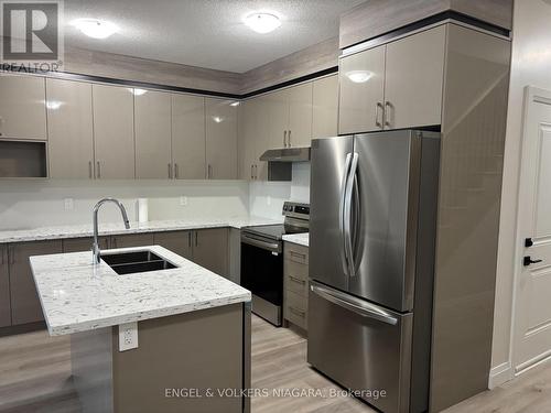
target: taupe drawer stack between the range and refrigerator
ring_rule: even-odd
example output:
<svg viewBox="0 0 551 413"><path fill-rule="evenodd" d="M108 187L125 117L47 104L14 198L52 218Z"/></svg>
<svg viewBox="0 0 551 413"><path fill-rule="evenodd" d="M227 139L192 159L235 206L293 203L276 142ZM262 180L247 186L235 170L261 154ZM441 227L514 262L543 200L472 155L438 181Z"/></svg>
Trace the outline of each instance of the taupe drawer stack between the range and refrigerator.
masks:
<svg viewBox="0 0 551 413"><path fill-rule="evenodd" d="M292 242L283 247L283 318L307 329L309 249Z"/></svg>

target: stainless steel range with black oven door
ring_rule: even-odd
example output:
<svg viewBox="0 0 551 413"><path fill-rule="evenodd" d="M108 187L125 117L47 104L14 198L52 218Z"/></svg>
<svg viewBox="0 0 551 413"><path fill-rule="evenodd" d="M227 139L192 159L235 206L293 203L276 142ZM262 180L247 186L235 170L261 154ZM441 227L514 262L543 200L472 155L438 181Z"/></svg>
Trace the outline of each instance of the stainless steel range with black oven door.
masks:
<svg viewBox="0 0 551 413"><path fill-rule="evenodd" d="M283 224L241 231L241 285L252 293L252 312L276 326L282 320L282 237L309 231L310 205L287 202L283 215Z"/></svg>

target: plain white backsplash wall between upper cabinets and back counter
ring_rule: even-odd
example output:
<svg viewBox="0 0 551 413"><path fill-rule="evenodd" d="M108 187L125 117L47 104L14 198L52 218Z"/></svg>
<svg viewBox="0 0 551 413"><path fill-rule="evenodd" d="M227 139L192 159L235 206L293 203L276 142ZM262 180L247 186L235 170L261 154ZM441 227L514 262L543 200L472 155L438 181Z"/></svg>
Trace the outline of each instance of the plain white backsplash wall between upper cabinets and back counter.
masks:
<svg viewBox="0 0 551 413"><path fill-rule="evenodd" d="M137 220L138 198L148 198L149 220L179 218L282 219L284 200L307 203L310 163L293 164L293 181L3 181L0 182L0 230L91 222L91 208L104 197L120 199ZM181 205L185 197L186 205ZM65 208L65 199L72 209ZM105 205L100 222L117 222L120 213Z"/></svg>

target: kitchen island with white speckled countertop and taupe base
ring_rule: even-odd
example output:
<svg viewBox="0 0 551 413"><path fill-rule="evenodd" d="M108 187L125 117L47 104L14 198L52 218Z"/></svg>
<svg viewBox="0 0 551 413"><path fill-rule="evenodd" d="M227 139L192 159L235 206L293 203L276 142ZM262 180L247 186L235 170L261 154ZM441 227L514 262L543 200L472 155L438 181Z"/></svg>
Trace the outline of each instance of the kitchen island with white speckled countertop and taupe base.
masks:
<svg viewBox="0 0 551 413"><path fill-rule="evenodd" d="M144 254L149 264L119 259ZM50 334L72 335L84 411L249 411L250 293L159 246L101 258L31 258ZM145 272L155 259L169 269Z"/></svg>

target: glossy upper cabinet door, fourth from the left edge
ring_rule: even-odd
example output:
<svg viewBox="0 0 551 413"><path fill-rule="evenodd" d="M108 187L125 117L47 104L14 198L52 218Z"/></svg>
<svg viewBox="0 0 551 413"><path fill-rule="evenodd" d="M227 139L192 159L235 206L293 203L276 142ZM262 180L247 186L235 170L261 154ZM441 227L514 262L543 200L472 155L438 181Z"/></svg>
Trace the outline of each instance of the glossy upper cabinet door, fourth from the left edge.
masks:
<svg viewBox="0 0 551 413"><path fill-rule="evenodd" d="M171 178L171 95L134 90L136 177Z"/></svg>

